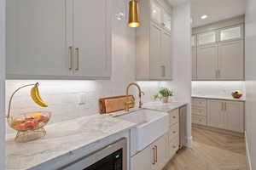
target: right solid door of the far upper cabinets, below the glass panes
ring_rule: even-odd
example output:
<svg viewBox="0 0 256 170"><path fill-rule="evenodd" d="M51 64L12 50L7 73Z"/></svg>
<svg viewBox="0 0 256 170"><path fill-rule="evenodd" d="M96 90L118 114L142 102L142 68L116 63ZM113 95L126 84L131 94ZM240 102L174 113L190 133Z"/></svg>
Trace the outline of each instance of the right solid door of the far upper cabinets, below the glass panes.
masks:
<svg viewBox="0 0 256 170"><path fill-rule="evenodd" d="M218 44L220 80L244 79L244 42L220 42Z"/></svg>

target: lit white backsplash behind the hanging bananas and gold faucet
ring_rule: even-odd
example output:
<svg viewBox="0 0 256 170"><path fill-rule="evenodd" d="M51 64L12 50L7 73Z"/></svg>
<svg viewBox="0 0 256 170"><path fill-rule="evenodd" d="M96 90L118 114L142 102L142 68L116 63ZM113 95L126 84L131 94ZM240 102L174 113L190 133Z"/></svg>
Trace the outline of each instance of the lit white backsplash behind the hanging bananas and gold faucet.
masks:
<svg viewBox="0 0 256 170"><path fill-rule="evenodd" d="M132 82L132 79L130 80ZM60 80L8 80L6 81L6 108L10 95L20 86L39 82L39 90L42 98L49 105L48 108L42 108L36 105L30 98L30 87L22 88L15 94L12 105L12 114L30 111L51 111L51 123L64 122L82 116L91 116L98 114L98 99L109 96L125 95L125 88L128 81L113 82L106 81L60 81ZM153 95L161 87L170 88L172 82L168 85L166 82L137 82L145 95L143 102L154 100ZM131 88L131 94L137 99L137 89ZM172 99L177 99L174 96ZM138 101L138 100L137 100ZM7 133L15 133L7 127Z"/></svg>

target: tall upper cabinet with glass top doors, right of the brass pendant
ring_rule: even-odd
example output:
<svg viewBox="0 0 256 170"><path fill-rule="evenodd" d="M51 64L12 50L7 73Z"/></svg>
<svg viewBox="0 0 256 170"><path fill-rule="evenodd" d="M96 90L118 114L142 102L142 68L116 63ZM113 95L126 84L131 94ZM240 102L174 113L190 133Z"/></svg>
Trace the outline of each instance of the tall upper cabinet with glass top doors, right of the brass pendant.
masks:
<svg viewBox="0 0 256 170"><path fill-rule="evenodd" d="M137 80L172 80L172 14L157 0L138 1Z"/></svg>

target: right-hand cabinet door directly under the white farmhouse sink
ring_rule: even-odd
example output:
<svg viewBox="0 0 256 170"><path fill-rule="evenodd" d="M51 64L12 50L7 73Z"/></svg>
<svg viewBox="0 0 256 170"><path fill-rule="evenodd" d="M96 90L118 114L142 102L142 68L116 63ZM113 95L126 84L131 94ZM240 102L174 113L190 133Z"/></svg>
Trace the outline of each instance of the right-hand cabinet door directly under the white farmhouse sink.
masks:
<svg viewBox="0 0 256 170"><path fill-rule="evenodd" d="M152 164L152 169L161 170L166 165L166 135L157 139L152 146L156 149L156 163Z"/></svg>

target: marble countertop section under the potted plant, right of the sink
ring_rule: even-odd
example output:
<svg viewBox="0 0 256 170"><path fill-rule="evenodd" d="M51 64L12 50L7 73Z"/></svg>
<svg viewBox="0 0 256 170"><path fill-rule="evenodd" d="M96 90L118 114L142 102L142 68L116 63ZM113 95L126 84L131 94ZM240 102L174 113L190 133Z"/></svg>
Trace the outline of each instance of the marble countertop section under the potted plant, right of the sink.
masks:
<svg viewBox="0 0 256 170"><path fill-rule="evenodd" d="M177 109L177 108L179 108L183 105L187 105L187 103L176 102L176 101L163 103L161 101L153 101L153 102L149 102L149 103L144 104L143 108L151 109L151 110L155 110L155 111L168 112L168 111L175 110L175 109Z"/></svg>

